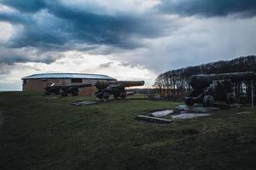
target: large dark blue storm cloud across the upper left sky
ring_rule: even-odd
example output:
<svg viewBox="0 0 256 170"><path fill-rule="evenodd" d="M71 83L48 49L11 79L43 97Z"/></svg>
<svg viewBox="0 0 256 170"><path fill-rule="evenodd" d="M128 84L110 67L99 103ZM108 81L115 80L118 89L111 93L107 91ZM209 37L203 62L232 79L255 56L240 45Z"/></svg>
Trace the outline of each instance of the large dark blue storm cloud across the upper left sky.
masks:
<svg viewBox="0 0 256 170"><path fill-rule="evenodd" d="M20 13L0 14L0 20L24 26L23 33L11 43L15 48L55 48L70 41L137 48L139 43L131 42L130 37L161 34L160 28L151 22L152 18L144 15L96 14L60 1L3 1L3 4L20 10ZM27 14L31 12L34 14Z"/></svg>

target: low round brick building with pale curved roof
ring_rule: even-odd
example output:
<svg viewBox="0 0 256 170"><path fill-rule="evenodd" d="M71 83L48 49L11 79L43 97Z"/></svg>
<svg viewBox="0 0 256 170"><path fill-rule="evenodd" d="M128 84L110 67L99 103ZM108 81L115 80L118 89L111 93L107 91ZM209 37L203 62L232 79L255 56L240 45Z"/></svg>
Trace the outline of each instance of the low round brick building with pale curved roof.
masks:
<svg viewBox="0 0 256 170"><path fill-rule="evenodd" d="M96 81L115 81L116 79L106 75L98 74L81 74L81 73L44 73L34 74L21 78L22 90L44 93L44 88L55 83L58 85L68 84L95 84ZM79 88L79 95L90 96L96 93L96 87Z"/></svg>

